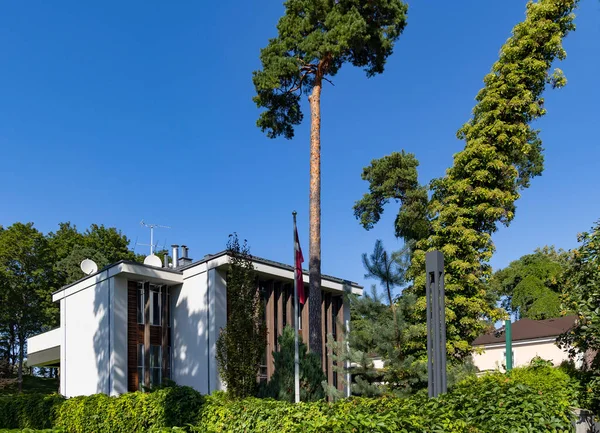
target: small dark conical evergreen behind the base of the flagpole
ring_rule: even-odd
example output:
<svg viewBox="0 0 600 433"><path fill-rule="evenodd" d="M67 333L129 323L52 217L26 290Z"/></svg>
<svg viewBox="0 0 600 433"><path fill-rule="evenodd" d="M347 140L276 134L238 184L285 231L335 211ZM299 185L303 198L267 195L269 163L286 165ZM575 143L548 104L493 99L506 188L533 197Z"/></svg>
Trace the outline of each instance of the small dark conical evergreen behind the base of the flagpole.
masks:
<svg viewBox="0 0 600 433"><path fill-rule="evenodd" d="M279 338L279 351L273 351L275 371L271 380L259 392L261 397L276 400L294 401L294 328L286 326ZM300 358L300 401L317 401L325 397L321 383L326 381L321 369L321 358L308 352L302 339L298 342Z"/></svg>

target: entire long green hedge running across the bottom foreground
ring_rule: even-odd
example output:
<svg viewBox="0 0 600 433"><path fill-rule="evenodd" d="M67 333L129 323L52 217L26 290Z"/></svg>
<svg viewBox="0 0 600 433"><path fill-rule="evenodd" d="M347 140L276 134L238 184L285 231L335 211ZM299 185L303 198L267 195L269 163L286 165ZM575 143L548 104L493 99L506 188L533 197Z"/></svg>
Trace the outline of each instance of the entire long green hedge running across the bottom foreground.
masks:
<svg viewBox="0 0 600 433"><path fill-rule="evenodd" d="M232 401L223 393L203 397L187 387L66 401L37 396L39 401L30 404L25 400L32 397L23 396L17 405L0 403L0 428L52 426L53 432L63 433L562 433L573 430L575 385L560 370L536 367L467 379L437 399L419 394L292 404ZM39 424L25 425L31 420Z"/></svg>

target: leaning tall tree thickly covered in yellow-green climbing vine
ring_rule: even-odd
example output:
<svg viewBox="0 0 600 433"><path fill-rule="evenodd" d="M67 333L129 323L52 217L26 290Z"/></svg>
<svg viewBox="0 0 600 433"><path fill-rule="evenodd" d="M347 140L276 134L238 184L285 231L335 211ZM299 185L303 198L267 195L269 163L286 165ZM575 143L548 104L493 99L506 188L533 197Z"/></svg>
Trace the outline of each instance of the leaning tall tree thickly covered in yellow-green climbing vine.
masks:
<svg viewBox="0 0 600 433"><path fill-rule="evenodd" d="M514 218L519 191L543 171L542 142L531 124L546 114L542 94L547 85L561 87L566 79L560 70L550 73L555 60L566 56L562 39L574 29L573 10L577 0L539 0L527 4L525 20L517 24L512 36L500 50L500 57L484 79L478 93L473 117L459 131L465 148L454 155L454 164L431 185L432 197L426 212L410 211L402 201L405 187L398 181L388 186L383 180L371 182L371 190L381 186L383 202L370 200L373 209L359 212L361 222L376 222L378 203L400 197L400 214L415 215L417 222L426 215L428 228L418 236L412 254L409 289L418 299L411 318L408 349L424 355L426 341L425 253L440 250L446 273L447 350L452 359L471 354L471 342L505 313L496 308L487 290L491 277L489 260L494 252L492 234L500 224ZM393 167L402 174L401 158ZM383 167L385 160L381 162ZM413 163L414 166L414 163ZM416 166L415 166L416 167ZM401 180L416 178L408 171ZM384 173L385 174L385 173ZM413 181L410 190L418 190ZM386 194L383 194L386 193ZM361 204L360 202L358 203ZM361 210L360 208L358 208ZM355 214L357 208L355 207ZM363 215L366 215L363 217ZM398 219L397 219L398 221ZM368 224L366 225L368 228ZM403 224L401 227L406 226ZM411 226L410 221L408 227ZM404 236L396 230L397 234Z"/></svg>

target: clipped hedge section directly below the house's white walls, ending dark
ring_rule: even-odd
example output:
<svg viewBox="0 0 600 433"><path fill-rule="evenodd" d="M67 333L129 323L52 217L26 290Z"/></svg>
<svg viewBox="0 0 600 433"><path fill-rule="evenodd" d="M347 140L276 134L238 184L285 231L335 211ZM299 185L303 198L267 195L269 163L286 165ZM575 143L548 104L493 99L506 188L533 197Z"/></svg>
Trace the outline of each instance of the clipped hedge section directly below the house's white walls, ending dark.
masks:
<svg viewBox="0 0 600 433"><path fill-rule="evenodd" d="M204 397L189 387L169 387L120 397L74 397L58 410L56 427L69 433L133 433L198 423ZM160 430L159 430L160 431Z"/></svg>

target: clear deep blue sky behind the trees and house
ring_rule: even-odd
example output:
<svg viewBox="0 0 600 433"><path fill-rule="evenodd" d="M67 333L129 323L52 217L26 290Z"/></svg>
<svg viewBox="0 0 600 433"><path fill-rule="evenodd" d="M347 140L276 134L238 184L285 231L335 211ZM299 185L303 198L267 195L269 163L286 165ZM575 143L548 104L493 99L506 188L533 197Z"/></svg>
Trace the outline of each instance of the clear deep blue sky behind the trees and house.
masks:
<svg viewBox="0 0 600 433"><path fill-rule="evenodd" d="M291 211L308 251L308 124L292 141L256 127L251 74L279 1L6 2L0 15L0 224L117 226L201 258L237 231L252 252L292 261ZM361 253L393 249L390 204L372 231L354 219L362 167L405 149L441 176L482 79L524 0L411 2L385 74L345 66L323 91L323 272L370 284ZM495 267L545 244L576 245L600 218L600 2L583 0L537 123L546 170L494 237ZM308 116L306 116L308 118ZM142 249L143 248L143 249ZM138 252L146 251L138 247ZM307 255L307 254L305 254Z"/></svg>

